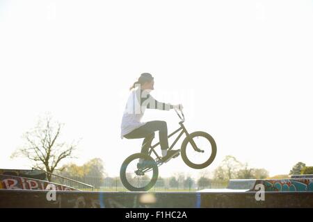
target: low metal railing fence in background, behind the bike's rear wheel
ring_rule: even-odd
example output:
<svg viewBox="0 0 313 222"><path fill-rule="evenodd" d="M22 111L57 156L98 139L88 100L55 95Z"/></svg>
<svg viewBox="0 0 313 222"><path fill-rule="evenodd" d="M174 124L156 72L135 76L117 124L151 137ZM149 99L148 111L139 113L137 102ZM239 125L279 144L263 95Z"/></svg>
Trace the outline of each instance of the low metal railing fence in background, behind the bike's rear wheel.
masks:
<svg viewBox="0 0 313 222"><path fill-rule="evenodd" d="M97 177L75 177L67 176L70 180L59 178L56 176L51 177L52 182L62 185L67 185L81 190L94 190L94 191L127 191L122 185L120 178L97 178ZM82 182L77 183L76 181ZM92 187L86 187L86 185ZM195 180L176 180L173 178L161 178L157 180L156 184L150 191L198 191L201 189L223 189L227 187L227 182L202 182L198 185Z"/></svg>

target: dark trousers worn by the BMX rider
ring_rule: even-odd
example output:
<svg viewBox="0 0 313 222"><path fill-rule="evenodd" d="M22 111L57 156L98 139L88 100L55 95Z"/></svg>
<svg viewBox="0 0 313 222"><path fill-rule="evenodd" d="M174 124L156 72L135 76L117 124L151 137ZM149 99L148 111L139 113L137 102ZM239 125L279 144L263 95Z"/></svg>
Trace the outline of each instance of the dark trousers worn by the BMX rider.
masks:
<svg viewBox="0 0 313 222"><path fill-rule="evenodd" d="M152 139L154 138L155 131L159 131L161 149L168 149L168 125L166 124L166 121L149 121L124 137L127 139L145 138L143 139L143 144L141 146L141 153L147 153L151 146Z"/></svg>

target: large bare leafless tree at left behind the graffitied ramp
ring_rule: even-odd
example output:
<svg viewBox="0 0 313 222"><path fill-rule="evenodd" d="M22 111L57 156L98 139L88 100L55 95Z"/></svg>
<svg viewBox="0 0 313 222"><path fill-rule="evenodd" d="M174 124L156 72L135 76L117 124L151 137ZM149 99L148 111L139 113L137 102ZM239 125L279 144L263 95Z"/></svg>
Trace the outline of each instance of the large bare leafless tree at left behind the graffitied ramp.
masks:
<svg viewBox="0 0 313 222"><path fill-rule="evenodd" d="M77 144L61 142L63 123L53 121L50 115L38 120L37 126L23 135L25 144L18 148L12 157L26 157L33 162L33 167L45 169L47 178L51 175L62 160L73 157ZM61 169L62 170L62 169Z"/></svg>

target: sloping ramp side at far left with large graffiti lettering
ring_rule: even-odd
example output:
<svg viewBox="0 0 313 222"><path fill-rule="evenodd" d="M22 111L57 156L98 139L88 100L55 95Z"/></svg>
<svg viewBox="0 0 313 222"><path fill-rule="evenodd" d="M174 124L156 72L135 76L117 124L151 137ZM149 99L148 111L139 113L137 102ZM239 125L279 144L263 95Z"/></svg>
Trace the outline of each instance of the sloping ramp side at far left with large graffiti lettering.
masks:
<svg viewBox="0 0 313 222"><path fill-rule="evenodd" d="M45 180L35 180L33 178L24 178L20 176L8 176L0 174L0 188L1 189L40 189L45 190L48 185L54 185L56 190L60 191L74 191L72 187L58 185Z"/></svg>

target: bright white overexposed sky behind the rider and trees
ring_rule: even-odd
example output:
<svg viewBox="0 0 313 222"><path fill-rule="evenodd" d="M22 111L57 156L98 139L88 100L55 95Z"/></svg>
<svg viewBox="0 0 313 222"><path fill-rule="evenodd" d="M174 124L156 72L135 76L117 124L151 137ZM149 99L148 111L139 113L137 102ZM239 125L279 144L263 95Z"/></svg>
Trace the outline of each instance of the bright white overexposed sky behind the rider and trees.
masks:
<svg viewBox="0 0 313 222"><path fill-rule="evenodd" d="M29 168L10 155L50 112L67 141L82 138L74 162L101 157L118 176L140 150L141 139L120 139L120 121L142 72L218 145L207 169L177 158L160 176L196 176L225 155L271 176L312 166L312 40L313 1L0 0L0 167ZM145 112L155 119L178 127L173 111Z"/></svg>

